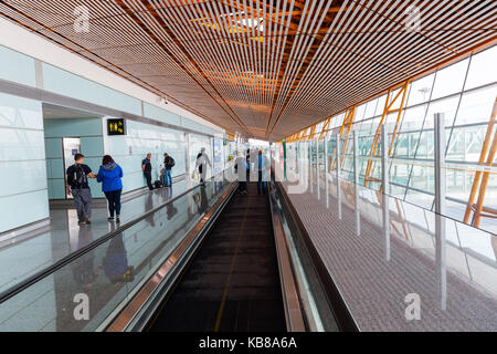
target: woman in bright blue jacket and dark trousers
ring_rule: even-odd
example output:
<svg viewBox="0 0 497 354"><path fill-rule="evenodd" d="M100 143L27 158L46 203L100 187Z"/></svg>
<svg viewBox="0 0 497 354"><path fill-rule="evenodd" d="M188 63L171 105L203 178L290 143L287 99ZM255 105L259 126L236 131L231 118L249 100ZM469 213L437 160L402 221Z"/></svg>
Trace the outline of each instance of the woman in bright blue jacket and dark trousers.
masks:
<svg viewBox="0 0 497 354"><path fill-rule="evenodd" d="M109 155L105 155L98 170L97 181L102 183L102 191L108 200L108 211L110 214L108 221L114 220L114 212L116 212L116 221L120 222L120 194L123 191L120 178L123 178L123 168Z"/></svg>

